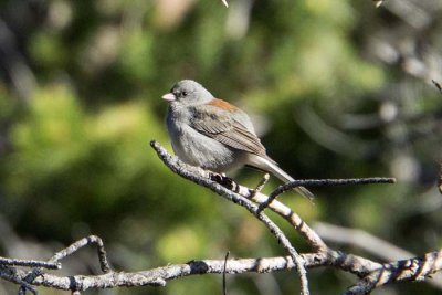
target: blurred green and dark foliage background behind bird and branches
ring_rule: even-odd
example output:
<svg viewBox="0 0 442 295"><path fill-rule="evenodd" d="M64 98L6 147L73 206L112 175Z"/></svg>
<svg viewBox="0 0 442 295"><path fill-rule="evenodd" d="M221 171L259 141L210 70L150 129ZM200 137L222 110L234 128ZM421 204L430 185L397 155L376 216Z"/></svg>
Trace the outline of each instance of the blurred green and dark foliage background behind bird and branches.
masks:
<svg viewBox="0 0 442 295"><path fill-rule="evenodd" d="M315 206L281 198L309 224L361 229L415 254L441 247L442 93L431 81L442 83L442 2L0 2L0 255L45 260L88 234L103 238L114 267L127 272L227 251L285 255L248 212L172 175L149 147L157 139L171 150L160 96L181 78L251 114L269 155L294 177L398 179L312 189ZM234 177L253 187L261 176ZM272 179L265 192L277 185ZM99 273L95 250L57 273ZM295 277L228 275L228 293L292 294ZM313 294L356 282L330 268L309 280ZM0 282L0 294L15 292ZM373 294L440 292L407 283ZM221 276L85 292L147 293L218 294Z"/></svg>

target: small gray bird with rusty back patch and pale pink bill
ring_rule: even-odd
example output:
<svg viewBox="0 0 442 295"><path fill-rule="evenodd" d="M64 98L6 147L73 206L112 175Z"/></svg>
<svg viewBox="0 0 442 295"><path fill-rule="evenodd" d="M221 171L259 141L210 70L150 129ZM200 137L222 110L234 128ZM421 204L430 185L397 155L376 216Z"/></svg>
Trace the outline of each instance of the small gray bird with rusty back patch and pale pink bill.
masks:
<svg viewBox="0 0 442 295"><path fill-rule="evenodd" d="M294 181L266 155L249 116L238 107L214 98L191 80L178 82L162 98L170 102L167 128L173 151L182 161L215 172L246 165L284 182ZM313 198L304 187L295 190Z"/></svg>

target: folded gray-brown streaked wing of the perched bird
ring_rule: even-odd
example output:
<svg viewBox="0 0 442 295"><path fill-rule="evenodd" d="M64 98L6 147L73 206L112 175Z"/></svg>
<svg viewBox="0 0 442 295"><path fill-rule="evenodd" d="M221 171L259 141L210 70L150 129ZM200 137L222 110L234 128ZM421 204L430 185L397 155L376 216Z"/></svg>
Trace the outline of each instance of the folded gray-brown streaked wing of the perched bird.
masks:
<svg viewBox="0 0 442 295"><path fill-rule="evenodd" d="M241 112L241 110L239 110ZM198 109L191 126L199 133L213 138L231 148L249 151L259 156L267 157L265 148L254 131L249 130L239 120L233 119L230 112L218 114L217 117ZM244 113L240 114L241 119L250 120ZM251 125L251 123L249 124Z"/></svg>

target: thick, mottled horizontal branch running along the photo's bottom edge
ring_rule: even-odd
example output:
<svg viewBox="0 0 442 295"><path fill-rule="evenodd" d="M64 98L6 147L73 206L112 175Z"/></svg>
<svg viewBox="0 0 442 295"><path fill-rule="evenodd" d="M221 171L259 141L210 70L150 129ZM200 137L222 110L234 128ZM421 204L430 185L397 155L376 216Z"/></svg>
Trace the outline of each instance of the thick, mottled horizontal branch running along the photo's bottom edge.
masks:
<svg viewBox="0 0 442 295"><path fill-rule="evenodd" d="M442 268L442 250L439 252L428 253L423 257L403 260L387 264L376 263L360 256L333 250L320 253L301 254L301 257L305 263L305 267L307 268L334 266L336 268L350 272L359 277L364 277L364 280L373 280L373 277L376 277L373 274L381 273L382 276L379 277L379 282L376 283L377 286L391 282L413 280L419 281L424 276L441 271ZM165 286L167 281L190 275L223 273L241 274L250 272L269 273L295 268L296 265L291 256L235 259L228 261L202 260L133 273L110 272L102 275L87 276L57 276L44 273L35 277L32 284L66 291L86 291L90 288L113 288L120 286ZM23 284L27 275L29 275L29 273L22 270L12 268L9 266L0 267L0 277L20 285ZM362 285L362 283L358 284Z"/></svg>

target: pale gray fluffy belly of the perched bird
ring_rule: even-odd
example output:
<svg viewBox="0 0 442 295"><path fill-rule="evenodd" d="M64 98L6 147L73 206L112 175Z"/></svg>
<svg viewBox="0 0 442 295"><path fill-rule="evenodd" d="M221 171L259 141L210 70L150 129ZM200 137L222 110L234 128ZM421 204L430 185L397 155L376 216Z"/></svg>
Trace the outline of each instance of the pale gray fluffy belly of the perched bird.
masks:
<svg viewBox="0 0 442 295"><path fill-rule="evenodd" d="M244 165L243 152L196 131L190 126L169 128L175 154L185 162L215 172L228 172Z"/></svg>

